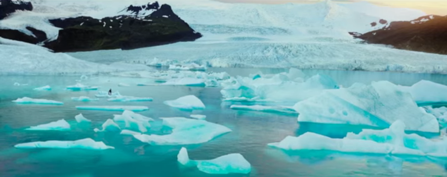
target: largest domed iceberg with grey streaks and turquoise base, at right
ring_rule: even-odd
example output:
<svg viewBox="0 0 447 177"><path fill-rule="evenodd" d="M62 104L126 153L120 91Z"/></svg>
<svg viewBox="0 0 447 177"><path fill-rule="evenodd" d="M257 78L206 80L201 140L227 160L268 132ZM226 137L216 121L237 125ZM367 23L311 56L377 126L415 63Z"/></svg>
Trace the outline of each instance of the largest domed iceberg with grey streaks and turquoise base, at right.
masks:
<svg viewBox="0 0 447 177"><path fill-rule="evenodd" d="M294 109L299 122L339 123L389 127L402 120L406 130L439 132L436 118L418 108L408 92L388 81L354 83L347 89L327 90Z"/></svg>

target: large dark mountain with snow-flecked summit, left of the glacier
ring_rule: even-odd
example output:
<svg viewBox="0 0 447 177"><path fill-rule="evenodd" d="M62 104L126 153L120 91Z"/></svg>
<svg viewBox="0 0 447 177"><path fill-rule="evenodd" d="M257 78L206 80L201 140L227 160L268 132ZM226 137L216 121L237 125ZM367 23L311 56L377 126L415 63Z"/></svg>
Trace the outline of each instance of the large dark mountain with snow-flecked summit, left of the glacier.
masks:
<svg viewBox="0 0 447 177"><path fill-rule="evenodd" d="M11 0L2 0L11 1ZM118 15L102 19L92 17L59 18L49 20L62 28L56 40L48 41L44 31L27 28L34 36L18 30L0 30L0 37L29 43L43 43L54 52L79 52L109 49L136 49L166 45L179 41L193 41L202 35L178 17L169 5L157 2L143 6L129 6Z"/></svg>

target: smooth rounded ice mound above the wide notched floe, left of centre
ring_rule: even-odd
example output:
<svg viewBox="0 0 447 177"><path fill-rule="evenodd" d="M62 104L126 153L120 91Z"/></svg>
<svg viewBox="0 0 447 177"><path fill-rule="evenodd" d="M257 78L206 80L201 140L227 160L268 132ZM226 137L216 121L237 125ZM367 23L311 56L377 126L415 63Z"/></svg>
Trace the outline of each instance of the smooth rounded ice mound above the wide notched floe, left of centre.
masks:
<svg viewBox="0 0 447 177"><path fill-rule="evenodd" d="M168 106L180 109L205 109L204 103L193 95L180 97L177 100L170 100L163 102Z"/></svg>

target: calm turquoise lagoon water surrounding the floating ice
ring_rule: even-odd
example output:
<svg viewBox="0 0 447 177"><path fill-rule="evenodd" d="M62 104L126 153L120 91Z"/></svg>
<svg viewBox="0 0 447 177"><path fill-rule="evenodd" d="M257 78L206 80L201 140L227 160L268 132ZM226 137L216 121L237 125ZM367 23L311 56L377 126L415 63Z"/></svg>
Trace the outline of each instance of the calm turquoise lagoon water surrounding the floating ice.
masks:
<svg viewBox="0 0 447 177"><path fill-rule="evenodd" d="M256 69L213 69L227 71L230 75L256 73ZM264 73L282 72L284 69L262 69ZM328 74L342 85L353 82L368 83L374 80L390 80L397 84L411 85L421 79L447 84L447 76L435 74L378 73L359 71L305 71L308 74ZM186 86L130 86L118 87L119 82L138 83L147 79L123 77L99 77L85 83L100 86L103 91L111 88L121 95L152 97L153 102L119 103L75 102L71 97L94 97L96 91L69 92L64 87L72 85L79 77L69 76L0 76L0 176L447 176L447 159L425 157L395 157L383 155L343 154L328 151L284 152L267 147L286 136L298 136L307 131L318 132L334 138L343 137L346 132L358 131L362 127L296 122L295 115L231 110L231 103L222 102L219 88ZM14 82L28 83L13 86ZM51 85L52 91L33 91L34 87ZM187 112L170 108L163 101L177 99L185 95L195 95L207 108ZM18 97L43 98L62 101L63 106L18 105L12 100ZM113 111L76 110L82 105L140 105L149 111L139 112L156 119L150 134L167 134L158 117L184 116L190 114L207 115L210 122L219 123L232 129L229 134L199 145L186 145L191 159L213 159L225 154L241 153L251 164L250 174L215 175L206 174L195 168L184 168L177 163L177 153L182 146L150 146L113 132L95 133ZM74 116L82 113L93 122L87 126L77 126ZM28 126L66 119L73 125L71 131L24 131ZM103 141L114 150L19 150L18 143L47 140L78 140L92 138Z"/></svg>

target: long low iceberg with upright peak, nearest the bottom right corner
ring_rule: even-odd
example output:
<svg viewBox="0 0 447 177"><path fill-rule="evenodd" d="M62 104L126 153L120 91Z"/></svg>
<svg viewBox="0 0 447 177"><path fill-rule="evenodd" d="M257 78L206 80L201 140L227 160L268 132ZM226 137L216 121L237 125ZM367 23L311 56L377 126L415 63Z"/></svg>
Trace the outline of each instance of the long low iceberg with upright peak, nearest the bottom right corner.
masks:
<svg viewBox="0 0 447 177"><path fill-rule="evenodd" d="M405 134L405 124L395 121L383 130L363 129L359 134L349 133L343 139L332 139L306 132L299 137L286 137L269 146L284 150L332 150L349 153L418 155L447 157L447 139L429 140L417 134Z"/></svg>

